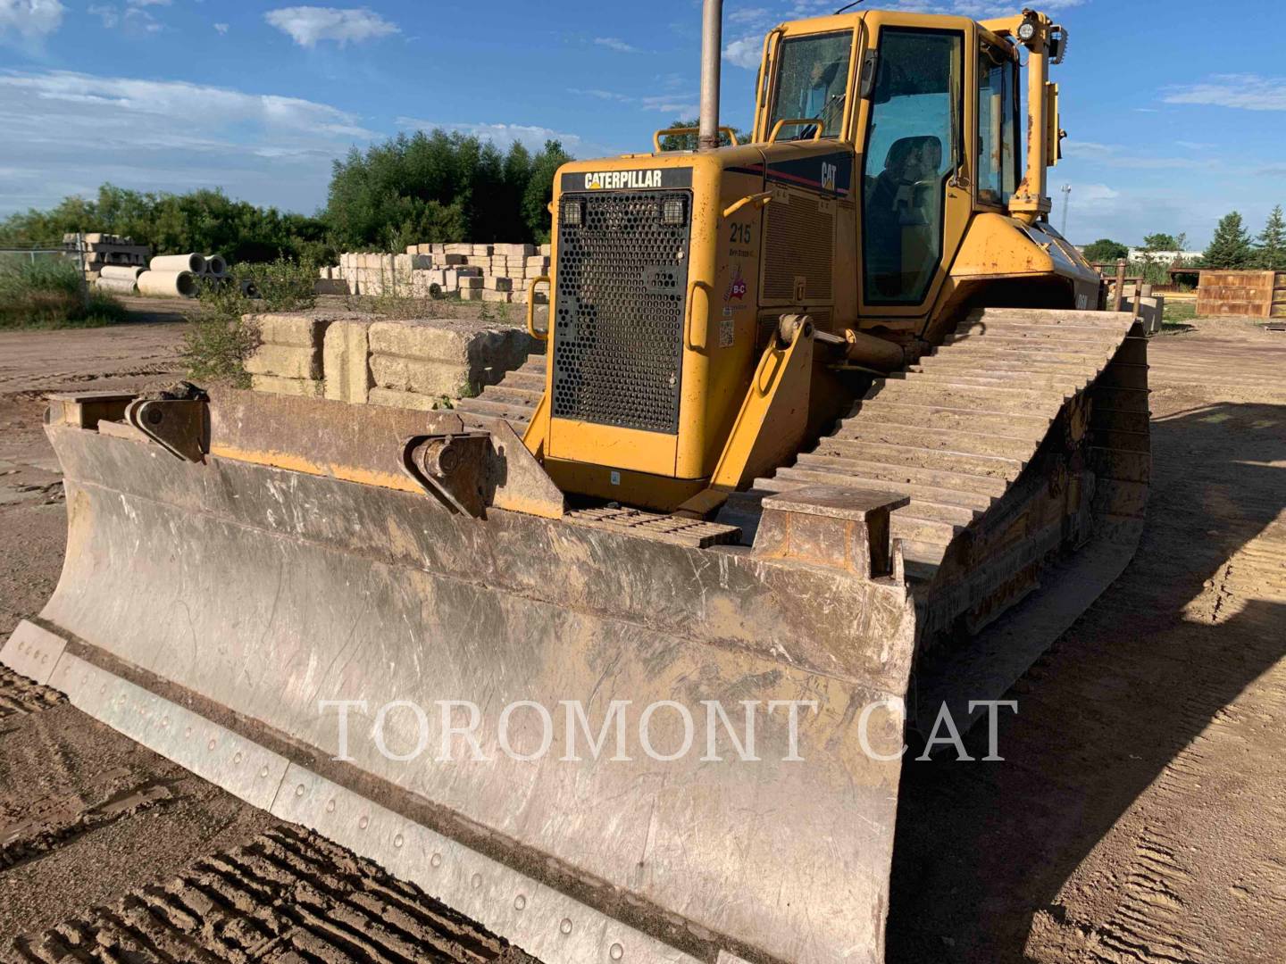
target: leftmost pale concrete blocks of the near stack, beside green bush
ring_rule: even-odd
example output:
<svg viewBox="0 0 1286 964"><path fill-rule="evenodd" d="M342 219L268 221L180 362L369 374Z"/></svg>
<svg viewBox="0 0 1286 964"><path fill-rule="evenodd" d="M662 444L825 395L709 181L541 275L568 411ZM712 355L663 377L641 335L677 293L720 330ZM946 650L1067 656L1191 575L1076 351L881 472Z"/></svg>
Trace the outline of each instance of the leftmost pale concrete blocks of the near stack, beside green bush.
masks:
<svg viewBox="0 0 1286 964"><path fill-rule="evenodd" d="M246 359L251 388L274 395L319 398L324 395L327 329L337 321L369 320L355 312L305 311L247 315L258 329L260 344Z"/></svg>

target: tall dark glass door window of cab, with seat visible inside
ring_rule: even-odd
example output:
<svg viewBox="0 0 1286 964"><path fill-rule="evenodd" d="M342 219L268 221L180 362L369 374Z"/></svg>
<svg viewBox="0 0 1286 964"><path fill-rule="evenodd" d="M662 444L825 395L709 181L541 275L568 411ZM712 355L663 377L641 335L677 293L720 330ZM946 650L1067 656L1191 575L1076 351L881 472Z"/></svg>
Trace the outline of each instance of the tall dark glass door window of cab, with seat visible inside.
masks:
<svg viewBox="0 0 1286 964"><path fill-rule="evenodd" d="M961 162L963 45L957 31L881 31L863 158L868 305L918 305L941 261L946 181Z"/></svg>

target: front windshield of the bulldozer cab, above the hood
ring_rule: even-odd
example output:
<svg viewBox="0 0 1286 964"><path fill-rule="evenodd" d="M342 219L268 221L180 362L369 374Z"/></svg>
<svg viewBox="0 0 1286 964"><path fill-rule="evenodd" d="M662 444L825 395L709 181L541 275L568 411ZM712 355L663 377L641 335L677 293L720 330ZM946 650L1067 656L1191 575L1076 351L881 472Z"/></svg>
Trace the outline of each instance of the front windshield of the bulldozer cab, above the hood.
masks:
<svg viewBox="0 0 1286 964"><path fill-rule="evenodd" d="M820 125L823 138L840 136L851 53L853 31L783 40L777 53L777 98L768 132L778 121L811 120ZM783 126L778 139L811 139L818 123Z"/></svg>

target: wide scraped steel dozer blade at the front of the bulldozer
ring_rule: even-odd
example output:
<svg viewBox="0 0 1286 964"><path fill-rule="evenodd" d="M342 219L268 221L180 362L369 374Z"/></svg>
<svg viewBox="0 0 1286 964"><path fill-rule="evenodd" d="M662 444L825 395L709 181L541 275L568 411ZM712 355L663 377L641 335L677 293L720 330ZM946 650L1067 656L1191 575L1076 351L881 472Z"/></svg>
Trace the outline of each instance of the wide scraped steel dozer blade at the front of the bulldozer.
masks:
<svg viewBox="0 0 1286 964"><path fill-rule="evenodd" d="M882 960L905 499L478 519L401 472L435 418L216 395L192 461L53 415L66 564L0 658L549 964Z"/></svg>

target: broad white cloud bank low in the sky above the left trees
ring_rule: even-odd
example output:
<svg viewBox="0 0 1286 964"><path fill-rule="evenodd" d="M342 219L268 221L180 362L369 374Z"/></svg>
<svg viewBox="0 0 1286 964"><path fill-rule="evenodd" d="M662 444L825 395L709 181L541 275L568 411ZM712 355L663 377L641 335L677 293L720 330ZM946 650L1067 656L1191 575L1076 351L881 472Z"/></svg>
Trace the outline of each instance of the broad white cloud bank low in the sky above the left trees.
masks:
<svg viewBox="0 0 1286 964"><path fill-rule="evenodd" d="M331 162L376 136L358 116L300 98L3 69L0 130L5 163L42 172L0 189L0 211L48 207L107 180L139 190L221 185L256 203L311 210Z"/></svg>

